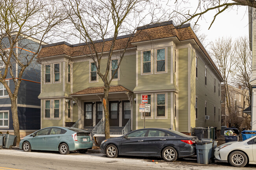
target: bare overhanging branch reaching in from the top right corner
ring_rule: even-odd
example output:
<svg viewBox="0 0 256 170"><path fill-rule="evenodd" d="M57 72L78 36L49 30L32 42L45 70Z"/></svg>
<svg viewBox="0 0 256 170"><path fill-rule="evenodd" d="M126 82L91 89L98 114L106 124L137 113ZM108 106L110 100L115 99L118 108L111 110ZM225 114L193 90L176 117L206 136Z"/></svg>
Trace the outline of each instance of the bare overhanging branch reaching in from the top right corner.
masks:
<svg viewBox="0 0 256 170"><path fill-rule="evenodd" d="M183 19L180 22L180 25L185 24L186 22L194 21L193 25L197 25L198 20L204 17L205 13L213 12L215 15L211 20L212 26L213 22L215 21L216 17L223 13L223 11L227 11L232 9L232 7L239 7L239 6L250 6L256 8L255 0L198 0L197 7L191 12L190 9L187 11L182 10L180 11L180 4L189 4L189 0L176 0L176 12L183 16Z"/></svg>

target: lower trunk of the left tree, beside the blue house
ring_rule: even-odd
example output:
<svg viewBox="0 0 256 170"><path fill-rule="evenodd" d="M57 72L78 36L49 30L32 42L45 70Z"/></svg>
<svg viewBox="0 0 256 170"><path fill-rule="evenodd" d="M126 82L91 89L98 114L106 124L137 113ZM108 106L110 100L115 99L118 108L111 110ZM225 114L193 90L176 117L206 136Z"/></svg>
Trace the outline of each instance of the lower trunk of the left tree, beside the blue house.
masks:
<svg viewBox="0 0 256 170"><path fill-rule="evenodd" d="M17 146L20 144L20 124L18 118L18 110L17 110L17 97L12 97L11 99L11 113L13 116L13 130L14 135L17 136Z"/></svg>

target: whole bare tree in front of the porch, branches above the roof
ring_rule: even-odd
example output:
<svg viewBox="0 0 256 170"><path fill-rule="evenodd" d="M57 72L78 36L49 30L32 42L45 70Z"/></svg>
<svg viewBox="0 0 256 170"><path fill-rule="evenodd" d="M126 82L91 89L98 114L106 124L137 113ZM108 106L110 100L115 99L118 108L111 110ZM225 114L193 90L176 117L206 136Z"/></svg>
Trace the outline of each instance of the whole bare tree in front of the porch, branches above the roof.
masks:
<svg viewBox="0 0 256 170"><path fill-rule="evenodd" d="M85 42L85 48L89 51L81 52L85 57L92 58L97 74L104 82L104 96L101 101L105 113L105 137L108 139L109 108L107 103L113 75L117 72L126 49L130 46L136 27L145 20L147 24L152 23L152 16L159 11L158 6L151 8L152 3L149 0L62 0L62 2L69 14L70 22L75 27L74 35L80 39L80 42ZM161 17L158 19L160 20ZM122 44L122 49L119 50L120 59L117 68L108 80L111 57L117 45L117 37L120 35L128 36ZM105 51L108 62L106 68L102 68L101 60Z"/></svg>

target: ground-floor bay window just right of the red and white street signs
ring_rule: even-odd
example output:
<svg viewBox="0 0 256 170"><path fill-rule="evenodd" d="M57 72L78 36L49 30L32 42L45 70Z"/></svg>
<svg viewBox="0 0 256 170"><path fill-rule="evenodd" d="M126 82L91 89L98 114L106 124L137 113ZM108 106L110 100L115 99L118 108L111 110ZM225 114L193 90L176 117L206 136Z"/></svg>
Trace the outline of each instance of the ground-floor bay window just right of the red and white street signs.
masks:
<svg viewBox="0 0 256 170"><path fill-rule="evenodd" d="M167 119L167 94L156 93L155 95L155 119Z"/></svg>

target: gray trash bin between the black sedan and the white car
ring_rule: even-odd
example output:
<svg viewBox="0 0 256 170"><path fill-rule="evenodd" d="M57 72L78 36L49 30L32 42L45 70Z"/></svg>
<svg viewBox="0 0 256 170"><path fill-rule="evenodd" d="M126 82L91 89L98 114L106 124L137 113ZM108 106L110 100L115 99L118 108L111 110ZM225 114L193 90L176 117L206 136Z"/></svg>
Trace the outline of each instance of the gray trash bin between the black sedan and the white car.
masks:
<svg viewBox="0 0 256 170"><path fill-rule="evenodd" d="M207 141L196 142L197 150L197 163L209 164L211 163L211 158L213 157L213 140L209 139Z"/></svg>

